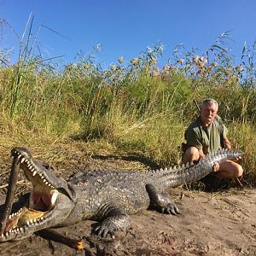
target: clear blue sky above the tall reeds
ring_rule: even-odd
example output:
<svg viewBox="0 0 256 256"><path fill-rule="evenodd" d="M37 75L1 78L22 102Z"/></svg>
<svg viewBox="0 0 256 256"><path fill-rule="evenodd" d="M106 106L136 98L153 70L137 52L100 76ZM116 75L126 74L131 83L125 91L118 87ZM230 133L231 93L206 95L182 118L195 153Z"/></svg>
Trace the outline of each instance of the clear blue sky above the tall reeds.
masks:
<svg viewBox="0 0 256 256"><path fill-rule="evenodd" d="M119 56L128 62L158 42L165 46L160 62L171 57L177 44L197 48L201 55L226 31L239 61L243 44L256 39L255 10L255 0L0 0L0 19L19 36L34 15L32 33L39 31L44 58L64 55L63 62L74 62L79 50L86 54L101 44L97 60L107 66ZM19 39L3 23L1 48L13 48L15 61Z"/></svg>

